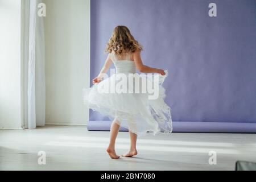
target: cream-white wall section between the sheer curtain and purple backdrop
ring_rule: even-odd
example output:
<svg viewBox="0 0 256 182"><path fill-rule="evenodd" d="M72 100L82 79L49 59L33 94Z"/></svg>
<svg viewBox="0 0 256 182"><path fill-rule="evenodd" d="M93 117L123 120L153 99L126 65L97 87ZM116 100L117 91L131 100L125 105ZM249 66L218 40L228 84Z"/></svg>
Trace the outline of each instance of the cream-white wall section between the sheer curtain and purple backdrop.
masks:
<svg viewBox="0 0 256 182"><path fill-rule="evenodd" d="M46 124L86 125L89 109L90 1L45 0Z"/></svg>

